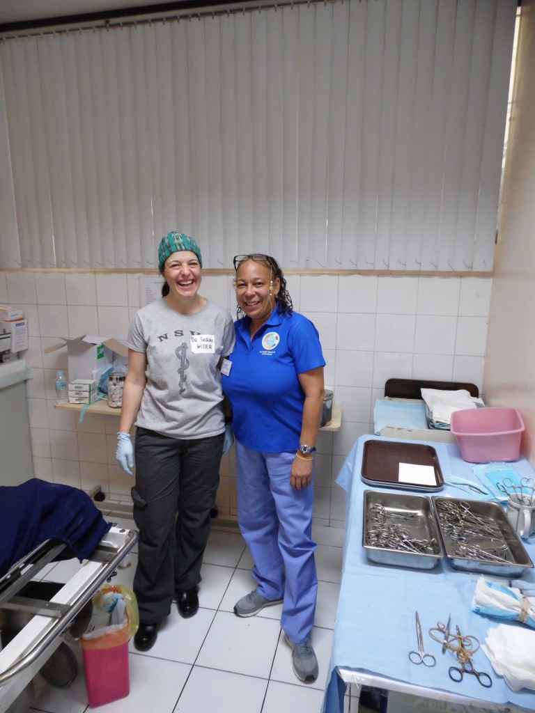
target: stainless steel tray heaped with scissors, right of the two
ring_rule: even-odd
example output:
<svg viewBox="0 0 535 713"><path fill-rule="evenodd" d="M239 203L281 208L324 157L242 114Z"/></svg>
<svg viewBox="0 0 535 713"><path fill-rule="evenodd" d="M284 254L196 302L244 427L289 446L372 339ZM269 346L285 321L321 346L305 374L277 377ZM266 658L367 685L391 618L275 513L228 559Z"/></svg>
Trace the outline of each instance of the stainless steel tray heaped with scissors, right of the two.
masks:
<svg viewBox="0 0 535 713"><path fill-rule="evenodd" d="M432 496L434 511L437 515L439 523L439 531L444 543L444 550L450 565L456 570L464 570L466 572L480 572L488 575L498 575L500 577L521 577L526 569L532 568L533 563L529 558L528 553L524 549L519 540L518 535L511 527L509 520L505 514L504 508L499 503L489 503L488 501L466 500L458 498L442 498L440 496ZM477 556L463 556L457 550L459 541L455 539L449 532L449 528L444 522L444 516L441 514L441 505L445 503L447 506L468 506L470 512L476 516L491 518L496 525L497 530L504 540L506 548L500 555L506 562L489 562L488 560L478 558ZM491 548L494 544L491 538L484 540L481 538L469 538L469 545L479 544L481 547Z"/></svg>

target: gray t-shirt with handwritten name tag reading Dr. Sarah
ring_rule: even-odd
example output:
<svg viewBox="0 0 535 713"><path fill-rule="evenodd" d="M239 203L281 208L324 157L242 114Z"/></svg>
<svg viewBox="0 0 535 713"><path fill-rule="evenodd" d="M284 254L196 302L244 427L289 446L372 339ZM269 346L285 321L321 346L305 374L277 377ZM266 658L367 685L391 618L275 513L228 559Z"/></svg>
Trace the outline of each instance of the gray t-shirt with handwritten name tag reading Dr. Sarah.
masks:
<svg viewBox="0 0 535 713"><path fill-rule="evenodd" d="M218 362L234 347L230 312L208 301L199 312L180 314L162 297L136 312L126 343L147 355L136 426L173 438L223 433Z"/></svg>

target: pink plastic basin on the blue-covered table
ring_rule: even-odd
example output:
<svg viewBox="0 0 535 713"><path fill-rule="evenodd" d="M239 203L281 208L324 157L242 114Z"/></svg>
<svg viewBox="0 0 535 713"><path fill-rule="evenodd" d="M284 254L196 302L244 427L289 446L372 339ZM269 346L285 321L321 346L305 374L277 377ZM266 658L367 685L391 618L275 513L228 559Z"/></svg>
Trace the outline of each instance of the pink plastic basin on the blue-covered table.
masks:
<svg viewBox="0 0 535 713"><path fill-rule="evenodd" d="M516 409L485 406L454 411L450 428L463 460L469 463L516 461L520 455L524 421Z"/></svg>

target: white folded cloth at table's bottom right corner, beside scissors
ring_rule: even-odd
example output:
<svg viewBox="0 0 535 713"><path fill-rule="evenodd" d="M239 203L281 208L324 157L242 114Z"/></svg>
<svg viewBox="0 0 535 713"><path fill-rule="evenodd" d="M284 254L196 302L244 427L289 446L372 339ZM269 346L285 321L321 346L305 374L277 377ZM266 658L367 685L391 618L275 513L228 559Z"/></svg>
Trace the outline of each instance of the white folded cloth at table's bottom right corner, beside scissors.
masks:
<svg viewBox="0 0 535 713"><path fill-rule="evenodd" d="M535 690L535 631L523 627L500 624L486 632L481 649L494 671L503 676L514 691L521 688Z"/></svg>

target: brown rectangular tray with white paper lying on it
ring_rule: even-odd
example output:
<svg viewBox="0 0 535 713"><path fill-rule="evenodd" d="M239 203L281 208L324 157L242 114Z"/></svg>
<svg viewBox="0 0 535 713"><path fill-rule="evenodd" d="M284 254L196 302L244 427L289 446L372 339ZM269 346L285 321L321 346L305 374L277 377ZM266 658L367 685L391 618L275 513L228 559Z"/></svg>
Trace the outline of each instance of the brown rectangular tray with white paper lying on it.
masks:
<svg viewBox="0 0 535 713"><path fill-rule="evenodd" d="M418 484L399 480L400 463L432 466L434 483ZM362 454L362 481L370 486L436 493L444 488L437 451L425 443L402 443L386 438L366 441Z"/></svg>

